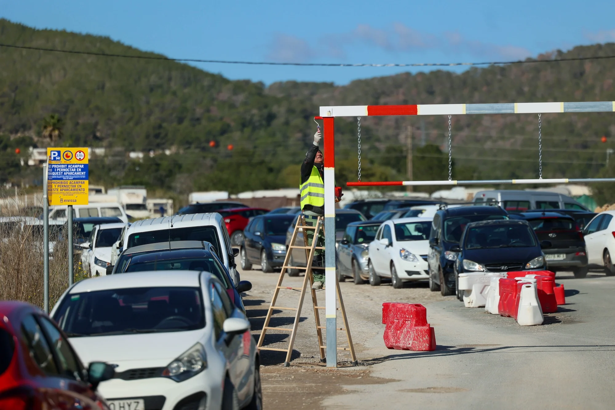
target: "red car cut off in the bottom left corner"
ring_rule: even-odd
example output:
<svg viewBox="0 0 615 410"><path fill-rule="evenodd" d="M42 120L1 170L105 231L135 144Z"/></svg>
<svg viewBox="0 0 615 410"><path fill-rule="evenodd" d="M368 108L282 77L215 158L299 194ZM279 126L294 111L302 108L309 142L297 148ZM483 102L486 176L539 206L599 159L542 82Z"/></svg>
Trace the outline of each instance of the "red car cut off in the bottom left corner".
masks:
<svg viewBox="0 0 615 410"><path fill-rule="evenodd" d="M109 410L96 393L113 366L84 369L66 335L30 303L0 302L0 409Z"/></svg>

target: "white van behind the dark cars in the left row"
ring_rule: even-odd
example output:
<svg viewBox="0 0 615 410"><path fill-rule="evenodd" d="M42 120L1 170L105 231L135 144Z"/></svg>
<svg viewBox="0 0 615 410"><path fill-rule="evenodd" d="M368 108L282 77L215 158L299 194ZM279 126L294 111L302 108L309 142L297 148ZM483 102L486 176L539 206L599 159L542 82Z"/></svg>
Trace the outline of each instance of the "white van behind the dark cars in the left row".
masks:
<svg viewBox="0 0 615 410"><path fill-rule="evenodd" d="M167 241L206 241L213 245L233 278L239 284L239 273L235 264L236 252L231 247L231 239L226 230L222 215L210 214L172 215L164 218L143 219L134 222L124 231L124 249Z"/></svg>

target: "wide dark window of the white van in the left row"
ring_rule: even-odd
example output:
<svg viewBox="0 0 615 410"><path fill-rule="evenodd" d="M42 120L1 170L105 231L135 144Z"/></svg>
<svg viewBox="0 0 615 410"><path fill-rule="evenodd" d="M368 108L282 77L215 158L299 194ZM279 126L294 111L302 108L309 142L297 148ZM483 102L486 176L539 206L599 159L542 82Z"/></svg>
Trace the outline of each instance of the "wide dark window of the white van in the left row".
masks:
<svg viewBox="0 0 615 410"><path fill-rule="evenodd" d="M133 233L128 237L128 244L125 248L171 241L209 242L216 248L218 255L223 255L220 241L218 241L218 231L212 225Z"/></svg>

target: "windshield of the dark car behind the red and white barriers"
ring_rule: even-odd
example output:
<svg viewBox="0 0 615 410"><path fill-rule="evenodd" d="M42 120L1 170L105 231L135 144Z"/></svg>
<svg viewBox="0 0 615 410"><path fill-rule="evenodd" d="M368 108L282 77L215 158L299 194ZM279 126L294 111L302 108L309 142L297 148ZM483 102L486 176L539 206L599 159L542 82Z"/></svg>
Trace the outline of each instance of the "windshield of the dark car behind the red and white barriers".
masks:
<svg viewBox="0 0 615 410"><path fill-rule="evenodd" d="M526 225L486 225L472 227L466 234L466 249L536 246L534 235Z"/></svg>

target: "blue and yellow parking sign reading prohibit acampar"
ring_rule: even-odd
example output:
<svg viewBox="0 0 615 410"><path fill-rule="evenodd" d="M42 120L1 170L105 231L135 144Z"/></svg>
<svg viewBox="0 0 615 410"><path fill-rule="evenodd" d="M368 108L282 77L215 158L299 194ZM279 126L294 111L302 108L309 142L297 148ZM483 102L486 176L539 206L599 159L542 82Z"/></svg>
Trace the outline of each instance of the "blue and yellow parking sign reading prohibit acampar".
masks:
<svg viewBox="0 0 615 410"><path fill-rule="evenodd" d="M49 205L87 205L87 148L47 148L47 164Z"/></svg>

